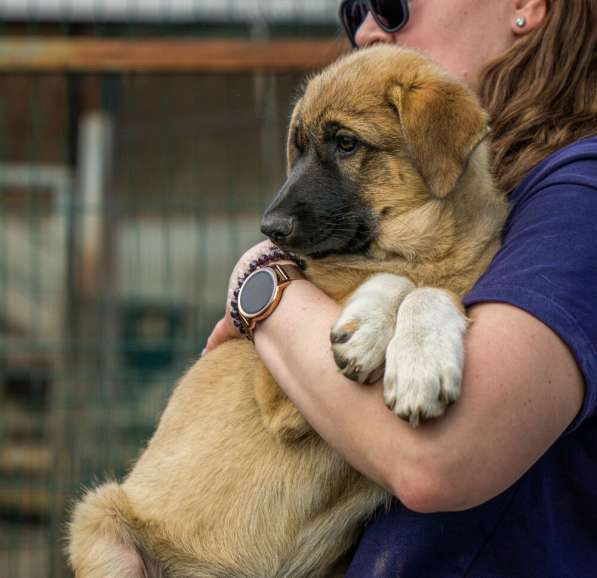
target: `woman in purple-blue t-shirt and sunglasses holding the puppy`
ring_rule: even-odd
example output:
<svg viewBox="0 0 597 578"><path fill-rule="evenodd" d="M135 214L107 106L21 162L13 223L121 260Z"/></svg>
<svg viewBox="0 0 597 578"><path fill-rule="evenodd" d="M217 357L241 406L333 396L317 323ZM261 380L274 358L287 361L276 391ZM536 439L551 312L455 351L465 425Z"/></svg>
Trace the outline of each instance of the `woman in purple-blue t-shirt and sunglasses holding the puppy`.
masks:
<svg viewBox="0 0 597 578"><path fill-rule="evenodd" d="M597 2L413 0L392 22L398 3L359 3L349 34L419 49L475 89L510 191L503 248L464 300L462 397L416 430L397 419L380 384L337 372L328 340L340 308L304 280L255 346L314 429L397 497L347 576L594 576ZM225 318L207 350L236 336Z"/></svg>

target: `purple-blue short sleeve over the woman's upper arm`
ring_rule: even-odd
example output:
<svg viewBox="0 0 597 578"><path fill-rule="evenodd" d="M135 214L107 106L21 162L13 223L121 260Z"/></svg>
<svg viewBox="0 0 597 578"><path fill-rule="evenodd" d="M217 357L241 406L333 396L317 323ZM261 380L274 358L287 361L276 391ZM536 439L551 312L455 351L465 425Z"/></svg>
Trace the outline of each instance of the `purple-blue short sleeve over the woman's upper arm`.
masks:
<svg viewBox="0 0 597 578"><path fill-rule="evenodd" d="M531 181L512 206L501 250L464 304L519 307L568 346L586 386L570 431L597 413L597 154Z"/></svg>

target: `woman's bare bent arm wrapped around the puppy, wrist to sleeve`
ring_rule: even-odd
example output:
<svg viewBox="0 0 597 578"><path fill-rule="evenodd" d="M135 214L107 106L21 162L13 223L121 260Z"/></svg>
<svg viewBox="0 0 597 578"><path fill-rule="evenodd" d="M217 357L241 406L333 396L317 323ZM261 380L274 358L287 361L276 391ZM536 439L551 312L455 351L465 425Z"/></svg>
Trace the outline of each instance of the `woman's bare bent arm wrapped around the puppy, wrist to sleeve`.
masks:
<svg viewBox="0 0 597 578"><path fill-rule="evenodd" d="M412 429L385 407L380 384L338 373L329 332L339 313L314 285L295 281L259 325L257 350L314 429L413 510L460 510L494 497L581 407L583 379L557 335L516 307L484 303L468 312L460 400Z"/></svg>

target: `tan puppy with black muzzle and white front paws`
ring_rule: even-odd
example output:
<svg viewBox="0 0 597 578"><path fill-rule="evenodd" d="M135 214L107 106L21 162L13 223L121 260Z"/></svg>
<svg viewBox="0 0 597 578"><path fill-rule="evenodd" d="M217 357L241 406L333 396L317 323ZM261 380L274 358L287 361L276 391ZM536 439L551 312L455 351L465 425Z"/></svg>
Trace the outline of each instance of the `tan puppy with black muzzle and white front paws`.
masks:
<svg viewBox="0 0 597 578"><path fill-rule="evenodd" d="M264 216L347 303L331 336L338 366L363 382L384 375L388 406L413 425L458 397L456 296L499 245L506 203L487 130L470 92L417 53L353 53L297 103L288 180ZM328 576L387 499L237 339L183 377L126 480L77 505L70 561L78 578Z"/></svg>

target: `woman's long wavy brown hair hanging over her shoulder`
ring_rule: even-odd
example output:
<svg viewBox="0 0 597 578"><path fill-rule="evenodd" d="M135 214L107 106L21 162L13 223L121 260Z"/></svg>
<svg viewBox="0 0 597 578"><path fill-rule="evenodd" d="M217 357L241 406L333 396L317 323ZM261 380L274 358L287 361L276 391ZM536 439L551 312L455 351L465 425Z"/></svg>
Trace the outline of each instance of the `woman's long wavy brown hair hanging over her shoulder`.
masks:
<svg viewBox="0 0 597 578"><path fill-rule="evenodd" d="M511 191L558 148L597 134L597 0L547 0L546 20L481 77L492 166Z"/></svg>

